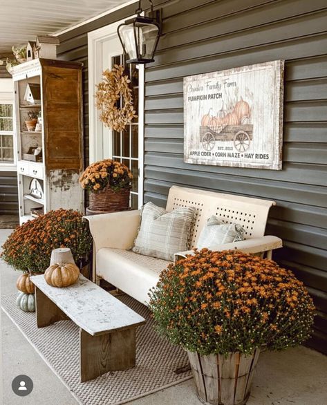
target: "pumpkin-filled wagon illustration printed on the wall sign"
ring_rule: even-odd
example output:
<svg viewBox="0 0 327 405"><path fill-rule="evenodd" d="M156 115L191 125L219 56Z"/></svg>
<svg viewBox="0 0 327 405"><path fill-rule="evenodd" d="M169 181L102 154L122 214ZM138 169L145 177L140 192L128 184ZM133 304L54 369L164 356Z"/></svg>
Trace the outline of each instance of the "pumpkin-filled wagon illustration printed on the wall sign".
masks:
<svg viewBox="0 0 327 405"><path fill-rule="evenodd" d="M217 116L212 116L211 111L212 109L209 109L201 120L200 142L203 149L212 151L216 141L232 141L237 151L247 151L253 135L249 104L241 97L241 100L230 108L230 113L225 113L222 108Z"/></svg>

